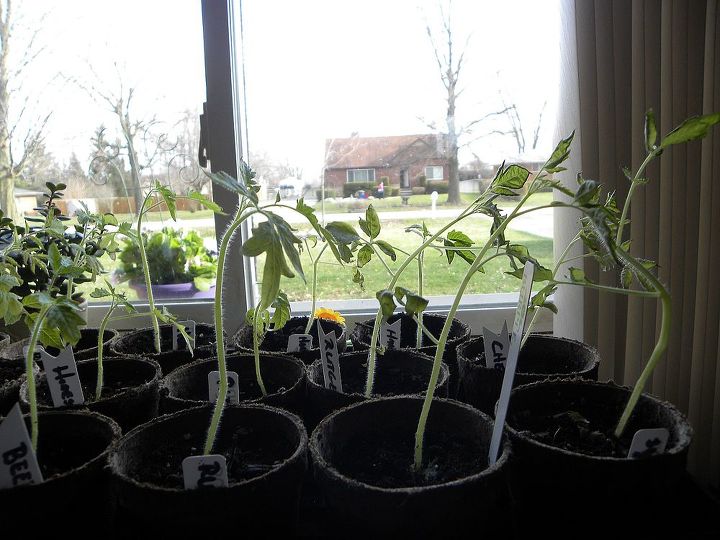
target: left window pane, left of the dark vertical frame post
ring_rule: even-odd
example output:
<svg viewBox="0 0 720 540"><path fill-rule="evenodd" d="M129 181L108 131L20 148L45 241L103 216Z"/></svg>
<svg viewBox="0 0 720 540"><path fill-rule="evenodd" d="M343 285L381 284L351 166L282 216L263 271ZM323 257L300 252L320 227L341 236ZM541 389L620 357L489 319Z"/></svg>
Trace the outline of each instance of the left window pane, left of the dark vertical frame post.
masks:
<svg viewBox="0 0 720 540"><path fill-rule="evenodd" d="M29 96L39 119L52 111L42 129L44 145L17 183L26 190L16 195L24 210L41 202L47 181L67 184L61 208L68 215L84 203L121 221L135 220L156 180L180 196L191 190L211 196L197 166L205 101L198 2L33 0L17 8L11 60L20 65L33 36L39 55L14 81L20 90L12 97ZM21 123L18 132L38 125ZM177 210L177 223L160 204L143 224L160 303L209 296L214 287L212 214L182 197ZM170 229L163 233L164 227ZM105 257L104 264L105 277L130 299L146 295L134 249L116 261ZM92 287L85 285L86 292Z"/></svg>

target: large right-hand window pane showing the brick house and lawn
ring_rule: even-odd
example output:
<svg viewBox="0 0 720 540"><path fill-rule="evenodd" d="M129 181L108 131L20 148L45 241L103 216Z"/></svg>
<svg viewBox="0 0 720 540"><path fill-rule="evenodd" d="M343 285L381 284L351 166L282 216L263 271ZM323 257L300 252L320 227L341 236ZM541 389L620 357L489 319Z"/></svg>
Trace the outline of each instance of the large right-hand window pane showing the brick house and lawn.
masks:
<svg viewBox="0 0 720 540"><path fill-rule="evenodd" d="M372 204L382 221L381 238L412 251L421 239L407 227L424 222L437 231L487 187L503 161L532 170L552 150L558 63L554 4L452 3L453 57L463 58L452 118L447 117L445 71L437 64L437 56L448 52L443 33L447 5L441 12L434 1L271 0L245 2L242 9L246 95L241 110L247 111L250 164L268 192L292 175L325 222L342 220L357 227ZM513 34L523 39L508 39L507 26L492 23L510 20ZM392 39L348 39L365 28ZM532 38L537 28L543 29L542 39ZM372 74L375 83L338 84L358 73ZM288 85L288 80L305 82ZM459 204L448 203L447 195L454 137ZM432 191L440 194L435 204ZM543 193L531 204L551 198ZM505 209L514 206L510 199L499 203ZM552 211L516 223L509 239L551 265ZM488 218L473 216L456 229L482 245L490 225ZM302 223L297 226L301 233L307 230ZM400 264L389 258L386 263L391 271ZM303 265L311 276L307 250ZM462 261L448 266L436 252L428 252L425 265L424 292L431 296L453 294L467 270ZM518 289L519 281L500 263L485 270L473 278L469 293ZM261 271L258 265L258 280ZM400 283L417 290L415 272L413 266ZM352 266L337 266L325 252L318 265L319 297L374 299L389 281L377 256L363 268L364 288L352 282L353 273ZM301 280L282 286L291 300L310 299L310 287Z"/></svg>

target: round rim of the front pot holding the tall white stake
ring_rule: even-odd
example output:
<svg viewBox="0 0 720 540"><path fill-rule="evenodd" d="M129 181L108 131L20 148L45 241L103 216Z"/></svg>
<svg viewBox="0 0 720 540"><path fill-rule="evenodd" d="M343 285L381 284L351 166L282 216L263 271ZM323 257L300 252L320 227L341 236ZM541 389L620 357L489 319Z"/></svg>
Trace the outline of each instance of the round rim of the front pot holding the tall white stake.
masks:
<svg viewBox="0 0 720 540"><path fill-rule="evenodd" d="M313 461L313 467L322 467L326 473L329 476L332 476L334 480L336 481L343 481L345 483L348 483L350 485L360 487L367 491L372 491L375 493L386 493L386 494L405 494L405 495L413 495L418 492L424 492L428 493L431 491L436 490L445 490L453 487L460 487L464 484L467 484L469 482L475 482L475 481L481 481L484 478L490 477L493 474L496 474L500 470L502 470L507 464L510 459L511 454L511 445L510 441L508 440L507 436L503 436L503 442L502 442L502 453L500 454L500 457L495 462L494 465L488 465L485 469L483 469L480 472L471 474L469 476L463 476L462 478L456 478L454 480L450 480L448 482L442 482L440 484L432 484L429 486L409 486L409 487L395 487L395 488L384 488L380 486L374 486L372 484L368 484L366 482L362 482L360 480L357 480L355 478L352 478L350 476L347 476L340 471L337 470L337 468L334 465L331 465L326 459L325 456L320 452L320 432L324 430L325 426L330 423L336 416L344 414L346 411L358 407L373 407L377 403L382 402L389 402L389 401L403 401L403 400L416 400L422 402L424 400L423 397L419 396L413 396L413 395L400 395L400 396L383 396L383 397L377 397L377 398L370 398L365 401L360 401L358 403L353 403L352 405L348 405L347 407L343 407L342 409L339 409L332 414L329 414L326 416L313 430L312 434L310 435L310 442L308 444L310 455ZM433 404L435 405L437 402L441 402L443 404L449 405L451 407L466 409L468 412L475 414L477 416L482 417L486 422L492 424L493 420L484 412L480 411L479 409L476 409L475 407L472 407L466 403L462 403L460 401L454 400L454 399L448 399L448 398L433 398Z"/></svg>

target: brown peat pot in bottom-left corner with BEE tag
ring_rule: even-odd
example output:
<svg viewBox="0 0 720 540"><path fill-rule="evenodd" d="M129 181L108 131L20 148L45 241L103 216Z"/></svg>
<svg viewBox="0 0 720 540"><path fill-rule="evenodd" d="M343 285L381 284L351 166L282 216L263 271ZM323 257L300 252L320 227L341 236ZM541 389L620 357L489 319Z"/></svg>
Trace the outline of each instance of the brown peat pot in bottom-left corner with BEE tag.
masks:
<svg viewBox="0 0 720 540"><path fill-rule="evenodd" d="M30 433L29 415L25 424ZM110 533L113 498L106 462L119 437L120 427L101 414L40 412L37 459L44 482L0 490L3 538L31 537L44 527L63 531L78 523L94 534Z"/></svg>

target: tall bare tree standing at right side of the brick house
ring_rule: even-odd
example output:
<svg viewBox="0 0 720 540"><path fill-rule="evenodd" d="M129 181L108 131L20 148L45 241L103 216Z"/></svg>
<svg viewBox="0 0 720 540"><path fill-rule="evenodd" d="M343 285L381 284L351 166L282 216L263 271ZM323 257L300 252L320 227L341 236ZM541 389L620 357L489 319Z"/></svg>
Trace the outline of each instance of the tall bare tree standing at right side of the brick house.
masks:
<svg viewBox="0 0 720 540"><path fill-rule="evenodd" d="M463 60L468 43L471 36L467 36L462 46L458 46L452 26L452 1L448 0L447 9L442 4L439 5L440 16L442 21L442 30L440 38L435 37L430 24L425 25L428 38L435 54L438 70L440 72L440 80L446 91L446 112L445 112L445 128L442 130L445 143L445 156L448 160L448 202L450 204L460 204L460 175L458 163L458 151L462 146L471 144L473 141L487 137L492 134L506 135L507 131L492 130L476 135L472 140L461 140L465 136L473 135L473 132L480 124L492 117L506 114L507 107L503 110L491 112L480 118L476 118L466 124L457 122L456 107L457 100L463 92L458 86L463 68ZM440 41L441 40L441 41ZM421 119L422 120L422 119ZM428 127L435 130L437 126L434 123L426 122Z"/></svg>

